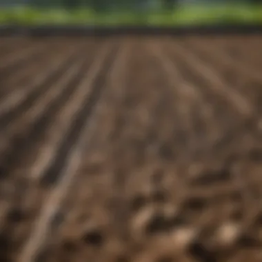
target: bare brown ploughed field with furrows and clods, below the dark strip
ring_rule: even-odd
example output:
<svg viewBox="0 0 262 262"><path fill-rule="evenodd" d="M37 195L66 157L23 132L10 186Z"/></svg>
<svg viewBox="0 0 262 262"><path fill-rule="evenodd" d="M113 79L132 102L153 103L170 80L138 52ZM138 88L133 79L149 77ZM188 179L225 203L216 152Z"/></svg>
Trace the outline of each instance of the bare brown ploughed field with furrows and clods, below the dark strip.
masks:
<svg viewBox="0 0 262 262"><path fill-rule="evenodd" d="M262 261L261 46L0 39L0 261Z"/></svg>

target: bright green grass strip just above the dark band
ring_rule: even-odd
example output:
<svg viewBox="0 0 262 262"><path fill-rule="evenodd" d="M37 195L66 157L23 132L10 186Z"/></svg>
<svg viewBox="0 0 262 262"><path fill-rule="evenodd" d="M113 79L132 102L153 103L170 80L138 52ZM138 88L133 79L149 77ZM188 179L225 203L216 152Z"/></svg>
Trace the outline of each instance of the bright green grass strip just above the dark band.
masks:
<svg viewBox="0 0 262 262"><path fill-rule="evenodd" d="M1 24L88 24L88 25L204 25L212 23L261 23L262 6L188 6L163 12L96 13L88 8L63 9L12 8L0 10Z"/></svg>

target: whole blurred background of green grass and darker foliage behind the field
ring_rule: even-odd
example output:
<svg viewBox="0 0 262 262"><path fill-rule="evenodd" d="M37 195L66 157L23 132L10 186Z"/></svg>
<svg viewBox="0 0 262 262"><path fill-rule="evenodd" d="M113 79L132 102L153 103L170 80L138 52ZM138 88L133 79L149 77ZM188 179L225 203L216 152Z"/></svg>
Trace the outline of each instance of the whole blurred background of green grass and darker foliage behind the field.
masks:
<svg viewBox="0 0 262 262"><path fill-rule="evenodd" d="M262 24L262 0L0 0L0 23Z"/></svg>

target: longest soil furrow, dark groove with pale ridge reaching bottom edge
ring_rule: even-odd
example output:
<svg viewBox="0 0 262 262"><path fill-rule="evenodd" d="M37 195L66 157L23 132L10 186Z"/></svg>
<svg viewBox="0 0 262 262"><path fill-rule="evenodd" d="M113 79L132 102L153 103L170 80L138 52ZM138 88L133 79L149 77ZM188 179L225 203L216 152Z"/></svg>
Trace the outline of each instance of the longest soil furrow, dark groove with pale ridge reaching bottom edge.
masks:
<svg viewBox="0 0 262 262"><path fill-rule="evenodd" d="M46 199L46 202L43 204L39 221L37 221L37 224L35 225L35 230L32 231L28 243L26 243L25 248L21 252L21 261L36 261L39 258L39 252L41 254L41 245L45 242L44 236L50 230L50 223L52 223L52 219L58 211L63 196L67 192L70 181L72 181L72 178L79 167L81 154L83 154L84 150L83 143L88 139L86 132L88 131L90 117L92 117L92 110L94 110L96 103L99 101L101 92L104 88L105 77L108 74L108 70L110 70L112 59L116 52L117 46L114 46L113 48L110 47L109 54L108 49L105 49L104 52L101 51L100 59L97 59L92 70L89 72L90 77L89 75L86 76L85 81L81 83L82 88L90 88L90 90L90 85L92 85L92 91L88 94L88 98L84 100L77 118L73 120L71 125L72 129L65 137L61 148L59 148L59 152L62 152L63 154L57 154L54 165L50 166L50 169L44 177L48 183L54 183L57 180L59 180L59 183L57 183L54 190L50 192L48 199ZM102 62L104 64L101 68ZM64 165L61 165L61 162L64 163ZM55 177L52 181L48 181L50 172L54 170L56 171L53 173ZM59 177L59 174L62 172L63 175Z"/></svg>

